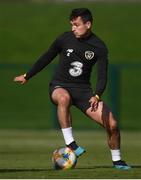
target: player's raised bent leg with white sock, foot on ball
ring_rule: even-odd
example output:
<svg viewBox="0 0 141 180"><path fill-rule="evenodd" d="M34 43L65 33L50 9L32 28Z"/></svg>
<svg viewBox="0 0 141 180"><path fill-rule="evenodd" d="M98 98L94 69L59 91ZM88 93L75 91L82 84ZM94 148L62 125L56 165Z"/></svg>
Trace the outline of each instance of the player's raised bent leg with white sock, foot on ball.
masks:
<svg viewBox="0 0 141 180"><path fill-rule="evenodd" d="M83 154L85 150L76 144L72 134L72 120L69 111L71 105L71 97L67 90L63 88L57 88L52 93L52 100L57 105L58 119L65 143L68 147L75 151L75 154L78 157Z"/></svg>

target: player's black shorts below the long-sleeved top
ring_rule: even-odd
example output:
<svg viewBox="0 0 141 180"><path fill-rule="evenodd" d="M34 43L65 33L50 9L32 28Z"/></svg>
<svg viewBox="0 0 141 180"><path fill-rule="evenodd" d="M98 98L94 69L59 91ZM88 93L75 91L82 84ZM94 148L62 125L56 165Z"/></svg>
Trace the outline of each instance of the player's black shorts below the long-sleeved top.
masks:
<svg viewBox="0 0 141 180"><path fill-rule="evenodd" d="M93 90L92 88L81 88L81 87L64 87L64 86L58 86L51 84L50 85L50 98L53 93L53 91L57 88L63 88L68 91L72 105L76 106L78 109L83 111L84 113L86 110L90 107L89 100L93 96ZM52 101L52 98L51 98Z"/></svg>

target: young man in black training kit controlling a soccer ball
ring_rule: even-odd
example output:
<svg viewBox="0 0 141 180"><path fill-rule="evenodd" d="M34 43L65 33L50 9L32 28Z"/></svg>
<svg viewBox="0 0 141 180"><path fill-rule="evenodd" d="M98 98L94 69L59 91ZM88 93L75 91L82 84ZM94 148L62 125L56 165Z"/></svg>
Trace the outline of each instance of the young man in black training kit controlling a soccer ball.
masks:
<svg viewBox="0 0 141 180"><path fill-rule="evenodd" d="M85 152L72 134L70 106L74 105L93 121L103 126L108 135L113 165L117 169L130 169L120 154L120 132L117 121L101 100L107 83L108 50L92 31L93 17L86 8L73 9L70 15L72 30L59 36L33 67L14 81L25 84L46 67L58 54L58 68L50 82L50 97L57 106L58 119L65 143L77 157ZM97 83L92 90L90 76L97 63Z"/></svg>

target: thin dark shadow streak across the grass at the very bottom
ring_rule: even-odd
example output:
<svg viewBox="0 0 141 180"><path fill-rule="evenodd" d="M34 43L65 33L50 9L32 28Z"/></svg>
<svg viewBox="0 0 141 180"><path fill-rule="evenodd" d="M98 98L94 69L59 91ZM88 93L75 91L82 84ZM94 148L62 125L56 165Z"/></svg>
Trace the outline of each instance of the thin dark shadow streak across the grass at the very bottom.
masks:
<svg viewBox="0 0 141 180"><path fill-rule="evenodd" d="M132 168L141 168L141 165L133 165L131 166ZM76 167L74 168L74 170L76 169L85 169L85 170L90 170L90 169L100 169L100 168L112 168L112 166L93 166L93 167ZM29 168L29 169L14 169L14 168L7 168L7 169L0 169L0 173L8 173L8 172L43 172L43 171L54 171L53 168Z"/></svg>

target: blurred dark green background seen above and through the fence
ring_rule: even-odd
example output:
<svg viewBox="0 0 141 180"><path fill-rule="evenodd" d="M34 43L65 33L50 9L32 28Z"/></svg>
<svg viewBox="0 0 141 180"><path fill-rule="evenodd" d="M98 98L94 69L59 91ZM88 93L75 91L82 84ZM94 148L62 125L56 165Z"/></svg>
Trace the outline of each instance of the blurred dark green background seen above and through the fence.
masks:
<svg viewBox="0 0 141 180"><path fill-rule="evenodd" d="M140 3L24 3L0 2L0 121L1 128L49 128L54 126L52 104L48 95L52 65L26 86L12 82L26 72L52 41L70 30L71 9L87 7L94 15L94 32L109 48L111 64L140 63ZM52 64L57 63L57 58ZM19 64L21 67L12 66ZM29 66L22 67L22 64ZM140 69L125 69L119 87L120 124L140 129ZM95 71L92 84L95 83ZM108 88L104 99L108 102ZM137 102L138 100L138 102ZM77 109L72 108L74 127L97 127ZM133 121L134 120L134 121ZM82 122L80 122L82 121Z"/></svg>

